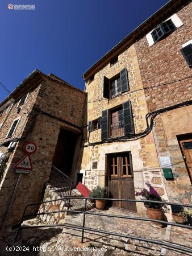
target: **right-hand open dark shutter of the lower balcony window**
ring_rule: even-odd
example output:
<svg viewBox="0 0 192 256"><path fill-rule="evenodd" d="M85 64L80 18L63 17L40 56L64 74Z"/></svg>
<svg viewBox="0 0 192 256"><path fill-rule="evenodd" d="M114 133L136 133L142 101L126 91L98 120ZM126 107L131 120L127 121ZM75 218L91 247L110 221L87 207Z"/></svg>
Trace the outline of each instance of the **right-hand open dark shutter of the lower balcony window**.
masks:
<svg viewBox="0 0 192 256"><path fill-rule="evenodd" d="M134 126L133 126L131 101L126 101L123 103L123 115L124 115L124 135L133 134Z"/></svg>

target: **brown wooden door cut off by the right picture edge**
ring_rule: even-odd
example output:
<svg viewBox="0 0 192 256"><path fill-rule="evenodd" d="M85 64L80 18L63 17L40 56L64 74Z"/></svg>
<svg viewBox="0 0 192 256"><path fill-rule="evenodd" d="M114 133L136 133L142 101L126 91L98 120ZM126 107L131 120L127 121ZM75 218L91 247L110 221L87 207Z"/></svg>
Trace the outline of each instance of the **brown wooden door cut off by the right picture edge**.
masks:
<svg viewBox="0 0 192 256"><path fill-rule="evenodd" d="M192 183L192 135L179 138L180 147Z"/></svg>

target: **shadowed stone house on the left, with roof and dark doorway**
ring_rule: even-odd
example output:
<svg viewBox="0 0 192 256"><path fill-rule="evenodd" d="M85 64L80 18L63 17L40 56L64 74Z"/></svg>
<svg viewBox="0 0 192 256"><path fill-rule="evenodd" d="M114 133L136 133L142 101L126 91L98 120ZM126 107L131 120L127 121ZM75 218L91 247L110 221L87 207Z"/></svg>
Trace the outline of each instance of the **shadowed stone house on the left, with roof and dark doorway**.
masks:
<svg viewBox="0 0 192 256"><path fill-rule="evenodd" d="M35 70L1 103L0 152L5 154L14 146L1 180L1 226L5 217L7 225L19 222L26 205L41 200L52 164L60 170L62 167L72 170L69 176L73 178L80 151L85 101L86 93L59 77ZM61 137L65 138L62 142ZM37 146L31 155L33 170L22 174L9 211L19 176L13 166L26 154L23 146L27 141Z"/></svg>

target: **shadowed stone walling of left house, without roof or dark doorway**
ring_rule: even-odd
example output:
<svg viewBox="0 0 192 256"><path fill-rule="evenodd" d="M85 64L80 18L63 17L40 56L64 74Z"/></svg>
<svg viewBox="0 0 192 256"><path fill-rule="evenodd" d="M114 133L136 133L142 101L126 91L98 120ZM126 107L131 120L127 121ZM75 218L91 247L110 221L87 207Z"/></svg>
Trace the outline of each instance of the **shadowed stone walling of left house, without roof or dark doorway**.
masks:
<svg viewBox="0 0 192 256"><path fill-rule="evenodd" d="M27 135L27 138L17 142L1 183L0 205L2 210L0 214L0 225L5 218L19 176L12 167L25 155L23 152L24 143L26 141L36 143L37 150L35 154L31 155L33 170L29 174L23 174L20 179L7 225L13 225L20 221L27 204L40 201L44 183L48 181L51 172L52 159L55 154L60 129L70 130L81 136L82 131L78 126L83 125L86 94L71 85L65 84L65 82L57 81L51 77L42 77L41 80L38 89L32 89L26 101L25 106L31 110L27 121L22 117L22 121L19 123L23 126L18 126L18 129L16 129L16 136L18 134L21 136ZM30 101L30 95L35 95L35 97L32 105L29 106L27 103L28 100ZM24 112L23 106L21 106L22 110L20 112ZM15 105L12 107L12 113L14 111L16 111ZM48 114L39 113L38 111L47 112ZM58 119L51 117L49 114ZM11 118L14 117L11 117L10 112L10 120ZM63 122L62 119L66 122ZM28 127L30 126L30 133L27 133ZM4 135L2 134L1 138ZM80 140L78 140L76 146L76 151L79 150ZM75 175L77 158L78 154L75 154L72 170L73 175Z"/></svg>

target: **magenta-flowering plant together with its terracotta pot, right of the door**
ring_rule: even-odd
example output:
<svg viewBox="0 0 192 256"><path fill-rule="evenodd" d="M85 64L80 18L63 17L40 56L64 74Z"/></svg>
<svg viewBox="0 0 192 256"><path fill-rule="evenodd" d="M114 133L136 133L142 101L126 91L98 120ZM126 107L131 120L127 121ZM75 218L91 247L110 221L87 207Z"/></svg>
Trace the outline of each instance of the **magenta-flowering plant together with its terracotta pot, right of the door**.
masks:
<svg viewBox="0 0 192 256"><path fill-rule="evenodd" d="M162 199L161 195L156 191L155 188L148 182L145 183L148 187L143 188L141 192L136 192L136 196L141 196L142 200L153 200L153 201L160 201L164 202L165 200ZM168 207L164 204L157 204L157 203L144 203L145 207L147 208L147 214L149 218L153 218L155 220L163 220L164 213ZM153 226L162 227L161 223L152 222Z"/></svg>

